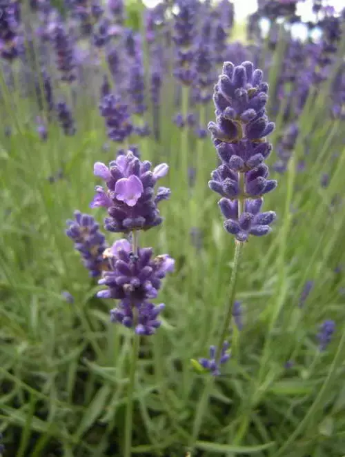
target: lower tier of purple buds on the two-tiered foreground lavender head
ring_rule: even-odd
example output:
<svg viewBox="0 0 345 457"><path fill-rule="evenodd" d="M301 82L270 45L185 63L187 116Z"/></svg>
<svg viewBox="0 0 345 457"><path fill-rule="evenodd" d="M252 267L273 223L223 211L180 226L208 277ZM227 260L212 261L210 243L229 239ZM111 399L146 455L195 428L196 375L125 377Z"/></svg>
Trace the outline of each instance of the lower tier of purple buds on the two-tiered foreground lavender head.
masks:
<svg viewBox="0 0 345 457"><path fill-rule="evenodd" d="M161 324L157 316L164 304L155 306L150 300L157 297L161 280L174 270L175 261L167 254L152 258L151 248L132 252L132 245L126 239L115 241L103 255L110 269L103 273L99 284L107 285L108 289L101 290L97 296L120 300L110 312L112 322L135 328L137 334L155 333Z"/></svg>

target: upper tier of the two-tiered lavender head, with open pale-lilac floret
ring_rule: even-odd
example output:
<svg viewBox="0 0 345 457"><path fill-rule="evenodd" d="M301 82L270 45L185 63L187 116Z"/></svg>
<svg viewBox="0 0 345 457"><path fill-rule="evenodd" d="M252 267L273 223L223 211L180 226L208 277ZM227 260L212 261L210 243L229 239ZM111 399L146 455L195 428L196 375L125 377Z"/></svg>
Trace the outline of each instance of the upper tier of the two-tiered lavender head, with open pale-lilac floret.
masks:
<svg viewBox="0 0 345 457"><path fill-rule="evenodd" d="M90 207L106 207L109 216L104 220L109 232L148 230L159 225L162 218L157 204L170 196L166 187L157 181L168 172L168 165L161 163L151 171L149 161L141 162L132 152L120 154L109 167L96 162L94 174L106 181L106 189L96 187Z"/></svg>

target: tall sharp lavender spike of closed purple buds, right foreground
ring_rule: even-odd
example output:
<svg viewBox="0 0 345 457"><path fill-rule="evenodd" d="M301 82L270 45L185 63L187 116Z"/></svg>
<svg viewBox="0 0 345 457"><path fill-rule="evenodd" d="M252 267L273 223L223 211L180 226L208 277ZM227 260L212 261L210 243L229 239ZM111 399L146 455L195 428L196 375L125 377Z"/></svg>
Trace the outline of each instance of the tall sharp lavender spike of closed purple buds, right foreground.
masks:
<svg viewBox="0 0 345 457"><path fill-rule="evenodd" d="M248 61L224 63L213 95L216 122L208 124L221 165L208 185L223 197L224 228L240 242L267 234L275 220L275 212L260 212L262 196L277 187L264 163L272 150L266 136L275 128L266 114L267 99L262 70Z"/></svg>

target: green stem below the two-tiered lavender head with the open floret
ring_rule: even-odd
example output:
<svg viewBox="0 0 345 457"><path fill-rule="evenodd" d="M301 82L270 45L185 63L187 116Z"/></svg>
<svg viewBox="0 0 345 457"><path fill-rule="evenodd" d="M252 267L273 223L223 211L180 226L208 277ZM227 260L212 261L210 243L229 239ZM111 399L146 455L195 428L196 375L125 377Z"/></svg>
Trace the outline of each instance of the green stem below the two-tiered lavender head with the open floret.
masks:
<svg viewBox="0 0 345 457"><path fill-rule="evenodd" d="M124 457L131 456L132 447L132 425L133 425L133 394L135 387L135 370L137 368L138 353L139 353L140 336L135 334L132 342L132 355L130 357L130 375L127 393L126 419L125 419L125 450Z"/></svg>

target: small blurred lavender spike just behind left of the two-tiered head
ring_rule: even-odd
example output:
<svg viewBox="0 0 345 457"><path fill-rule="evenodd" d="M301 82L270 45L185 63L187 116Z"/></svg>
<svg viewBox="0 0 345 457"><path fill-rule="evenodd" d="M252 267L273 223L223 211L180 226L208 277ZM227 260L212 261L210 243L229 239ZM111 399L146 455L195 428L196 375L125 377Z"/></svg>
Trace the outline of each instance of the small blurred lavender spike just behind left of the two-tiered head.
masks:
<svg viewBox="0 0 345 457"><path fill-rule="evenodd" d="M101 276L101 272L108 268L108 261L103 258L107 245L95 219L89 214L75 211L75 220L68 220L67 226L66 235L75 242L75 250L80 252L90 276Z"/></svg>

